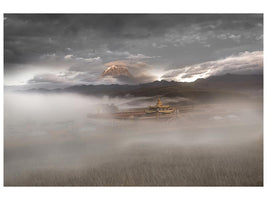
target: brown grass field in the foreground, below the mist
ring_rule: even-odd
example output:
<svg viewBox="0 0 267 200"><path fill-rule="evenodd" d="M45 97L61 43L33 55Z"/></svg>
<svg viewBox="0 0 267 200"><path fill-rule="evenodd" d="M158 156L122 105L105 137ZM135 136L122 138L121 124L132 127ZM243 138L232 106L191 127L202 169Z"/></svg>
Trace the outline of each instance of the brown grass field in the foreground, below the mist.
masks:
<svg viewBox="0 0 267 200"><path fill-rule="evenodd" d="M214 151L215 149L210 149ZM216 149L218 151L218 149ZM245 151L245 152L244 152ZM154 152L156 153L156 152ZM247 153L247 154L245 154ZM98 168L37 170L5 180L6 186L262 186L262 157L253 147L241 152L203 150L130 156ZM241 154L241 155L240 155ZM14 182L15 181L15 182Z"/></svg>

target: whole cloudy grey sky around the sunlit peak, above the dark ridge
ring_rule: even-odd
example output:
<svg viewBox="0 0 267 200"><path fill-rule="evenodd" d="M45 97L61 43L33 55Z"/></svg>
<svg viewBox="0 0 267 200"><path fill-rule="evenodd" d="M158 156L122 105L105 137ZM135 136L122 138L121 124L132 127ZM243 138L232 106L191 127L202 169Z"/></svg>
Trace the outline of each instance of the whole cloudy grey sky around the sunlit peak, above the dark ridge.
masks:
<svg viewBox="0 0 267 200"><path fill-rule="evenodd" d="M5 14L4 84L60 88L263 73L262 14Z"/></svg>

